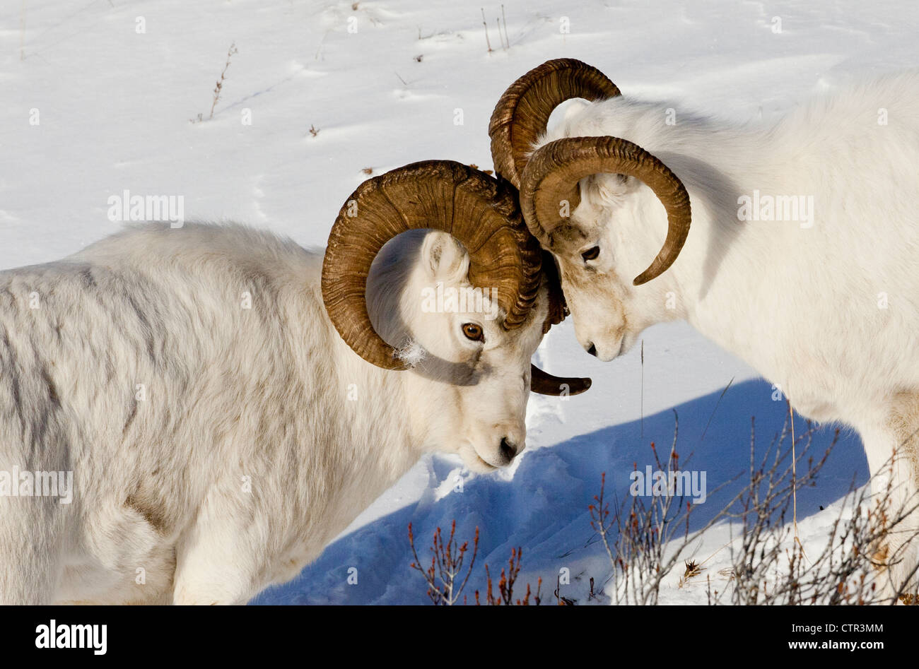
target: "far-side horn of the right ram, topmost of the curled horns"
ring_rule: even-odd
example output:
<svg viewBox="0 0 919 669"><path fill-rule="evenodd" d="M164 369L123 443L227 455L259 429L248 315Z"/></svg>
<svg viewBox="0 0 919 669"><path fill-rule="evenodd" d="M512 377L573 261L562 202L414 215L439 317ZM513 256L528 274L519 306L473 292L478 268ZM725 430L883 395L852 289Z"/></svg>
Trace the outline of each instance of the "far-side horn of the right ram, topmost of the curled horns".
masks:
<svg viewBox="0 0 919 669"><path fill-rule="evenodd" d="M516 80L494 107L488 135L494 171L520 187L528 155L546 131L552 109L573 97L599 100L619 89L596 67L572 58L539 65Z"/></svg>

